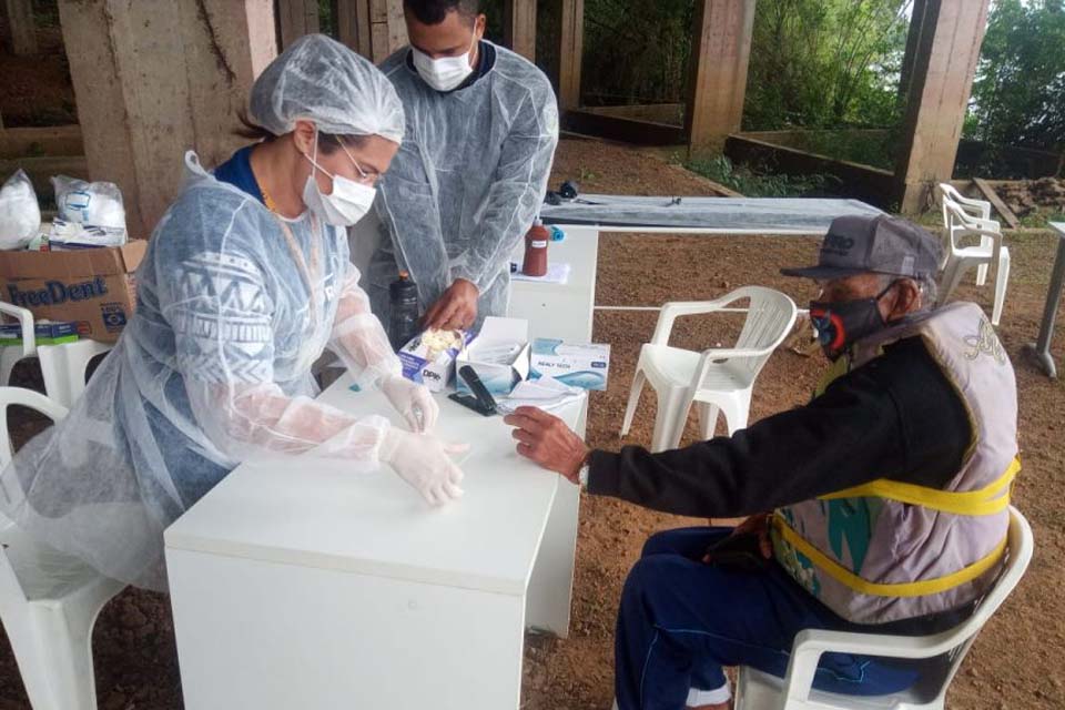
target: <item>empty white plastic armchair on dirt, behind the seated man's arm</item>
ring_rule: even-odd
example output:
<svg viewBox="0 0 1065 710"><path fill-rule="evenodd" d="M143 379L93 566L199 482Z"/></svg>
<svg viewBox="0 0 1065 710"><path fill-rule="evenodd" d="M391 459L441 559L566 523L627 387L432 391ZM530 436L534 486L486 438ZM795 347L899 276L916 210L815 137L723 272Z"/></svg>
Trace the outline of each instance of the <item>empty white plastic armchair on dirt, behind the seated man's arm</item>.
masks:
<svg viewBox="0 0 1065 710"><path fill-rule="evenodd" d="M729 304L748 298L747 321L733 347L696 353L669 346L678 316L721 312ZM794 322L795 304L791 298L761 286L738 288L717 301L667 303L659 312L651 342L640 349L621 436L632 426L645 383L650 383L658 394L652 452L679 445L692 404L699 405L703 438L713 436L719 412L724 415L730 435L744 428L754 379Z"/></svg>

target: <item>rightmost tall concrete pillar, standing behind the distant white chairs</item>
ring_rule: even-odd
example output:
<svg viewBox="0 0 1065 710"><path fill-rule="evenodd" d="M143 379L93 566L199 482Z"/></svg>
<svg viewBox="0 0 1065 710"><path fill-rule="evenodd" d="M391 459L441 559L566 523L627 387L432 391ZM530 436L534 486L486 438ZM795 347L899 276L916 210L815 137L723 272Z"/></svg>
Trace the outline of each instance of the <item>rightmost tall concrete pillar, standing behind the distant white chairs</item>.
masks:
<svg viewBox="0 0 1065 710"><path fill-rule="evenodd" d="M916 214L950 180L987 28L990 0L923 0L914 7L913 55L895 181L900 209ZM920 11L920 12L919 12ZM916 32L916 37L914 33Z"/></svg>

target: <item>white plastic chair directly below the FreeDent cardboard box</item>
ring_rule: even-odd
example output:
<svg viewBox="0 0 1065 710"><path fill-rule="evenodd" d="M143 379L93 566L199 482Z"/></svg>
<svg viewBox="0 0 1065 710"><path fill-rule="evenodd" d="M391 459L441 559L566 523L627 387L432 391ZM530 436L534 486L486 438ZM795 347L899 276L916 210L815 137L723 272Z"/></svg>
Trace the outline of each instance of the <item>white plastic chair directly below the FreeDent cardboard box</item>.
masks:
<svg viewBox="0 0 1065 710"><path fill-rule="evenodd" d="M22 326L22 346L0 348L0 387L11 383L14 366L27 357L37 357L41 365L44 392L64 407L85 390L85 375L94 357L106 353L113 345L95 341L77 341L62 345L38 345L33 329L33 314L19 306L0 302L0 313L14 316Z"/></svg>

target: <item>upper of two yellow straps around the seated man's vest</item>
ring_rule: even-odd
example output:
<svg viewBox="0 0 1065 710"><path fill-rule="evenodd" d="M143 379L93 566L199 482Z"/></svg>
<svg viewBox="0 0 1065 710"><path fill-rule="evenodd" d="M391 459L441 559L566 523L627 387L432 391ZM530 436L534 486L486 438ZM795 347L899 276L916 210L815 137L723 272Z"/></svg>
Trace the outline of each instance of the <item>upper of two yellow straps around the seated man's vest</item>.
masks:
<svg viewBox="0 0 1065 710"><path fill-rule="evenodd" d="M954 515L995 515L996 513L1002 513L1010 506L1008 488L1020 470L1021 460L1014 458L1013 463L1011 463L1006 469L1006 473L978 490L966 490L962 493L939 490L936 488L927 488L925 486L881 478L862 486L855 486L821 496L821 499L835 500L839 498L878 497L922 506L924 508L939 510L940 513L952 513Z"/></svg>

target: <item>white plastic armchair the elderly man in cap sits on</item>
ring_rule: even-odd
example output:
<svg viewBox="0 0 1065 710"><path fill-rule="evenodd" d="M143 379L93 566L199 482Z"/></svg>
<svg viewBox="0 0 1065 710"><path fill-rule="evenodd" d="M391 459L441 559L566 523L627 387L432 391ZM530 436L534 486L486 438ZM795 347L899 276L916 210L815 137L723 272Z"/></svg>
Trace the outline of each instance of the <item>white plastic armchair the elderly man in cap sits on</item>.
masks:
<svg viewBox="0 0 1065 710"><path fill-rule="evenodd" d="M973 615L953 629L934 636L881 636L840 631L807 630L795 637L788 673L781 680L748 667L740 667L737 710L942 710L946 689L957 673L976 635L1017 586L1034 542L1027 520L1010 508L1008 559L994 587ZM914 688L890 696L856 697L812 690L814 671L822 653L856 653L888 658L931 659L947 655L941 676L921 679Z"/></svg>

